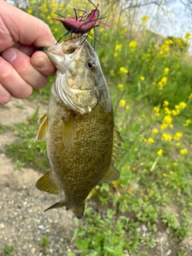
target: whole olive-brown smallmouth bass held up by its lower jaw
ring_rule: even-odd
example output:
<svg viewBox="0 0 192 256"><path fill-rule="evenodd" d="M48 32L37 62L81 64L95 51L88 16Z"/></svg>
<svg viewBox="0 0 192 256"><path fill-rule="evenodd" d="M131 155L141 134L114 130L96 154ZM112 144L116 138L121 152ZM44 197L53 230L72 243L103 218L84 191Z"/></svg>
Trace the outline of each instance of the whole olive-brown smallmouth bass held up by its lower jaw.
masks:
<svg viewBox="0 0 192 256"><path fill-rule="evenodd" d="M51 167L36 186L50 194L64 192L64 199L46 210L66 206L82 218L90 191L119 178L114 162L123 139L98 56L88 42L74 41L45 50L58 71L37 135L37 141L46 138Z"/></svg>

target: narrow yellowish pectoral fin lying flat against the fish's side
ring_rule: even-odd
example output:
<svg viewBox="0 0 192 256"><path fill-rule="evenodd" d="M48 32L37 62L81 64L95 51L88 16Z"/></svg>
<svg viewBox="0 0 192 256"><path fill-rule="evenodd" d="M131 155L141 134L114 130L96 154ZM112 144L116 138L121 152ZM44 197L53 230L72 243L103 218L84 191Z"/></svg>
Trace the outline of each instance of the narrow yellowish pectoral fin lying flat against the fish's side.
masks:
<svg viewBox="0 0 192 256"><path fill-rule="evenodd" d="M66 150L70 150L74 142L74 115L70 114L67 121L62 123L62 142Z"/></svg>

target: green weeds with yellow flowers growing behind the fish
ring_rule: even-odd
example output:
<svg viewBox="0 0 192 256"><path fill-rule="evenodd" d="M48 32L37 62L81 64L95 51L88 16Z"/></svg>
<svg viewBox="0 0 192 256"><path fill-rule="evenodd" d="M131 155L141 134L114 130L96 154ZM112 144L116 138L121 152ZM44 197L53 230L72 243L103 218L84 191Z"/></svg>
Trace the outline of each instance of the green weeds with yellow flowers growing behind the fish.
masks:
<svg viewBox="0 0 192 256"><path fill-rule="evenodd" d="M74 17L71 6L86 10L86 4L30 0L26 11L60 38L63 27L51 19L54 12ZM96 29L102 43L96 49L110 86L115 123L126 142L117 164L121 178L90 194L67 255L74 256L75 250L81 256L147 255L159 230L177 242L178 256L185 255L179 245L192 234L190 34L183 39L154 34L146 29L148 17L135 22L137 8L128 10L122 1L111 2L110 8L102 1L99 7L110 29ZM94 38L89 40L93 45ZM49 90L37 90L34 100L47 102ZM28 123L13 126L18 142L5 151L17 167L46 171L45 143L35 142L37 120L38 111Z"/></svg>

